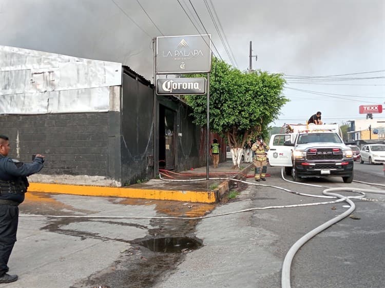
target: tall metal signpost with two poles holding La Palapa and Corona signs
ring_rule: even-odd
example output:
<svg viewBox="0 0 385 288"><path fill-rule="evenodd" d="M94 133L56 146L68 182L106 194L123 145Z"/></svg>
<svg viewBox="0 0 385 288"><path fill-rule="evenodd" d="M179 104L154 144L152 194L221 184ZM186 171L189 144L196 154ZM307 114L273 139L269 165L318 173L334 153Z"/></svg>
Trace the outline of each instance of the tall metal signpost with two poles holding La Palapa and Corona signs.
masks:
<svg viewBox="0 0 385 288"><path fill-rule="evenodd" d="M207 42L208 41L208 42ZM181 36L163 36L156 38L154 52L154 146L159 143L159 125L156 125L159 117L157 92L159 95L204 95L204 91L200 89L202 81L188 81L175 78L157 83L156 76L158 74L200 74L207 73L207 135L206 135L206 179L209 178L209 153L210 153L210 71L211 71L211 35L181 35ZM178 56L178 57L176 57ZM178 80L176 80L178 79ZM158 91L156 91L158 90ZM174 91L175 90L175 91ZM174 92L174 93L172 93ZM191 93L193 92L193 93ZM157 127L158 126L158 127ZM156 163L154 177L156 171L159 170L159 150L154 150L154 161ZM157 156L157 157L156 157Z"/></svg>

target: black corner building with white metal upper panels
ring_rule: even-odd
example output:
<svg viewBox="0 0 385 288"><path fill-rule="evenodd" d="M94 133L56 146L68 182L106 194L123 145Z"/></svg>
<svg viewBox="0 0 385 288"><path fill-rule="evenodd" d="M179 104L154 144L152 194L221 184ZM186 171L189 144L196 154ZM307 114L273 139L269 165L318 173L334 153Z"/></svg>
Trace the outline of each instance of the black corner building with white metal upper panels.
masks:
<svg viewBox="0 0 385 288"><path fill-rule="evenodd" d="M154 101L150 81L120 63L0 46L0 134L14 158L46 155L32 181L119 187L205 166L191 112L175 96Z"/></svg>

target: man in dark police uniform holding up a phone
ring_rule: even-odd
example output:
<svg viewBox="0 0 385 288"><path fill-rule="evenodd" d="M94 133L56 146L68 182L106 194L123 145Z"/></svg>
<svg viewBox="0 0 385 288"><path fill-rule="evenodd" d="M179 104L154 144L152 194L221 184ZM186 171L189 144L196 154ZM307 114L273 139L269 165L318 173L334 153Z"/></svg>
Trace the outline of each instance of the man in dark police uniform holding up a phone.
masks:
<svg viewBox="0 0 385 288"><path fill-rule="evenodd" d="M32 163L23 163L8 156L9 139L0 135L0 283L17 280L7 274L9 256L16 242L18 204L24 201L30 176L43 168L44 156L36 154Z"/></svg>

